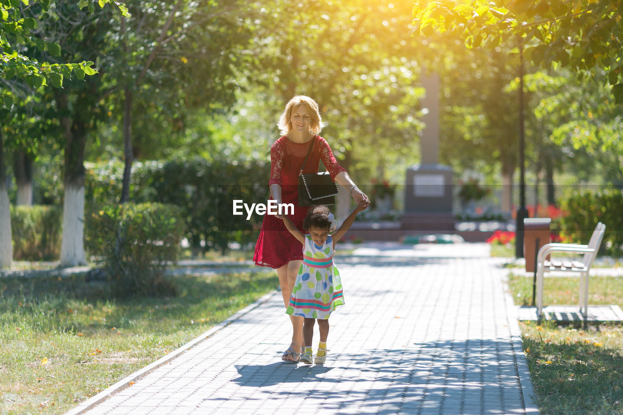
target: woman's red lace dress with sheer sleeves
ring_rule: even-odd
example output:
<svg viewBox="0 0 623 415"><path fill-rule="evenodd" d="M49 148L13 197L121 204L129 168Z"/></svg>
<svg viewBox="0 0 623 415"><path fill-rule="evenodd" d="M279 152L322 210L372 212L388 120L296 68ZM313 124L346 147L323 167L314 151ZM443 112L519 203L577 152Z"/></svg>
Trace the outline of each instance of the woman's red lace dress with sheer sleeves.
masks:
<svg viewBox="0 0 623 415"><path fill-rule="evenodd" d="M303 173L315 173L318 171L320 160L335 180L340 171L346 171L338 164L333 156L333 151L321 136L315 136L312 140L312 151L307 158ZM286 136L278 138L270 148L270 181L271 184L281 186L282 203L294 204L294 214L288 215L295 226L303 233L303 219L309 207L298 206L298 173L307 155L310 142L295 143ZM282 219L273 215L264 215L260 236L255 244L253 260L256 265L263 267L280 268L291 260L303 259L303 246L283 224Z"/></svg>

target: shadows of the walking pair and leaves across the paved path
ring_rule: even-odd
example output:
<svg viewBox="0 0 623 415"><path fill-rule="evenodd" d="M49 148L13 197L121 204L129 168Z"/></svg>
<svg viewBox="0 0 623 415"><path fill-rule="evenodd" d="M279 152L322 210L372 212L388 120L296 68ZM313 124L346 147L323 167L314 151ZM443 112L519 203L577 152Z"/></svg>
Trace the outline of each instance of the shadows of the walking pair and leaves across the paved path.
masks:
<svg viewBox="0 0 623 415"><path fill-rule="evenodd" d="M235 368L239 377L232 381L257 388L250 392L257 399L312 399L321 409L358 408L364 414L379 413L381 405L409 413L525 409L508 340L436 341L357 355L331 353L325 365L276 362ZM274 388L280 384L284 387Z"/></svg>

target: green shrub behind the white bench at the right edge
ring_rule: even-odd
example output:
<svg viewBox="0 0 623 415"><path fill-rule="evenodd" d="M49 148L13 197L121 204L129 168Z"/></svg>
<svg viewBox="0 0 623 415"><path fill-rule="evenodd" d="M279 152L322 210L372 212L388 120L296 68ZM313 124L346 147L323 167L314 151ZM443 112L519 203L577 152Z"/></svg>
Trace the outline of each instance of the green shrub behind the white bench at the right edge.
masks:
<svg viewBox="0 0 623 415"><path fill-rule="evenodd" d="M558 221L566 240L587 244L597 222L603 222L606 233L600 252L617 257L623 254L623 191L575 191L562 201L561 207L566 215Z"/></svg>

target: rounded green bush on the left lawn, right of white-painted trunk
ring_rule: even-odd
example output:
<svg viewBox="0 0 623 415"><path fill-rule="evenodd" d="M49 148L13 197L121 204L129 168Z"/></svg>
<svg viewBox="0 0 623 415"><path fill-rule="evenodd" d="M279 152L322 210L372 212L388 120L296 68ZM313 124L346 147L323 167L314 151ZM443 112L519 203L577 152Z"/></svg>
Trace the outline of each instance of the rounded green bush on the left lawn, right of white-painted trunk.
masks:
<svg viewBox="0 0 623 415"><path fill-rule="evenodd" d="M186 232L177 206L107 205L87 215L86 247L101 262L118 295L175 293L166 279Z"/></svg>

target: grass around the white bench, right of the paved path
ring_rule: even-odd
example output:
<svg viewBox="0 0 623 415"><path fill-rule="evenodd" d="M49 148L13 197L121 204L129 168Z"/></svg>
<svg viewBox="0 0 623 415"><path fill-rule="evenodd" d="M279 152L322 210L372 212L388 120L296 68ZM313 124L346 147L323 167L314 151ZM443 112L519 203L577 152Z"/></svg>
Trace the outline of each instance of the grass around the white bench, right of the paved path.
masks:
<svg viewBox="0 0 623 415"><path fill-rule="evenodd" d="M548 304L578 303L579 278L545 278ZM509 277L515 303L532 300L532 279ZM623 279L591 277L589 304L623 305ZM520 323L541 414L623 414L623 326Z"/></svg>

